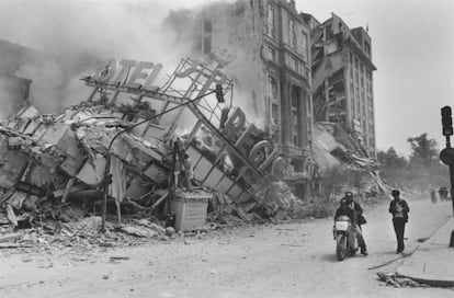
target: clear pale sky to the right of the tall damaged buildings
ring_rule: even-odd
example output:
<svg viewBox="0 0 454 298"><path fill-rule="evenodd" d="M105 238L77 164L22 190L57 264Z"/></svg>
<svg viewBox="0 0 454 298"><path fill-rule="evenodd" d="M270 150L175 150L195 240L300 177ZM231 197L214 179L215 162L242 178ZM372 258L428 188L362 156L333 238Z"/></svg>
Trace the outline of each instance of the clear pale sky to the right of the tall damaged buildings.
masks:
<svg viewBox="0 0 454 298"><path fill-rule="evenodd" d="M174 0L191 5L208 0ZM208 1L212 2L212 1ZM444 148L440 108L454 104L454 1L296 0L319 22L336 13L372 37L376 145L409 156L407 139L428 133Z"/></svg>

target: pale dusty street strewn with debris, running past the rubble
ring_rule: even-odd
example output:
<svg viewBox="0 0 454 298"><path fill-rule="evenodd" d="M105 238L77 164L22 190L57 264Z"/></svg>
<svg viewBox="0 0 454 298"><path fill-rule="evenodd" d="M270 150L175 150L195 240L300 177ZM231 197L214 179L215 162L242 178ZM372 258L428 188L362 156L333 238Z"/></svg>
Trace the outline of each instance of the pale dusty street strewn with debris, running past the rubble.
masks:
<svg viewBox="0 0 454 298"><path fill-rule="evenodd" d="M408 200L406 252L452 216L451 203ZM387 204L367 209L370 255L339 262L332 219L256 226L104 252L1 251L0 297L449 297L452 289L394 288L376 272L400 261ZM449 239L446 239L447 243ZM125 257L111 262L111 256Z"/></svg>

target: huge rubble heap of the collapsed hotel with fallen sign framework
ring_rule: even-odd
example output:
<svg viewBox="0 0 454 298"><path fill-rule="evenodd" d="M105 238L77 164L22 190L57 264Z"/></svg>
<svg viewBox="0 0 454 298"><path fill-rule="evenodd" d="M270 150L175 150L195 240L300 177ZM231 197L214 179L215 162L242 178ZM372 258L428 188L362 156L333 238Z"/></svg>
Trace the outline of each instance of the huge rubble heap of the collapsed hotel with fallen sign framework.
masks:
<svg viewBox="0 0 454 298"><path fill-rule="evenodd" d="M294 207L292 194L268 195L269 177L288 167L226 102L232 83L222 64L183 59L158 87L161 68L110 59L81 79L92 88L87 101L59 115L26 104L9 117L0 126L0 224L68 221L84 213L105 220L107 210L118 222L128 210L162 218L172 200L213 193L212 205L232 204L245 219L263 206L268 215Z"/></svg>

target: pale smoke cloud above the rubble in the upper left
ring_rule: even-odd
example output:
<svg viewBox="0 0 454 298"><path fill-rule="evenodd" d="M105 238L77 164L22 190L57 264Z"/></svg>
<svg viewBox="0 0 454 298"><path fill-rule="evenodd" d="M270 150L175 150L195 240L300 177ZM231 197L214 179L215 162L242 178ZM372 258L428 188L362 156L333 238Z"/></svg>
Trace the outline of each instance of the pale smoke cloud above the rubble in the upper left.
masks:
<svg viewBox="0 0 454 298"><path fill-rule="evenodd" d="M43 113L86 100L79 81L107 58L163 64L163 72L190 54L161 26L170 1L0 1L0 38L42 53L15 74L33 80L32 102ZM162 76L162 74L161 74ZM79 85L79 88L78 88Z"/></svg>

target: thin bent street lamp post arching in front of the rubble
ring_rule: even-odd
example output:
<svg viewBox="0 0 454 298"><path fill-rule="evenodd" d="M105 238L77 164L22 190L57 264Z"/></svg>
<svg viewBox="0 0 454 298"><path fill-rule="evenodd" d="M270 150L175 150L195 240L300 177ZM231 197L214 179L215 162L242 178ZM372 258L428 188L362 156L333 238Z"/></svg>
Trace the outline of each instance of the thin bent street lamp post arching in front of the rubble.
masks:
<svg viewBox="0 0 454 298"><path fill-rule="evenodd" d="M222 87L220 87L220 90L222 90ZM205 98L205 96L207 96L209 94L213 94L213 93L216 93L216 95L217 95L216 98L217 98L217 100L219 102L220 101L224 102L223 96L219 96L219 87L216 85L216 90L213 90L213 91L211 91L208 93L205 93L205 94L203 94L201 96L197 96L197 98L195 98L193 100L189 100L189 101L186 101L186 102L184 102L182 104L175 105L175 106L173 106L173 107L171 107L169 110L163 111L162 113L159 113L159 114L152 115L150 117L147 117L146 119L144 119L141 122L138 122L138 123L136 123L136 124L134 124L134 125L132 125L132 126L129 126L129 127L127 127L127 128L125 128L125 129L116 133L116 135L112 138L112 140L111 140L111 142L109 144L109 147L107 147L106 162L105 162L105 168L104 168L104 181L101 184L102 187L103 187L101 232L105 232L105 217L106 217L107 195L109 195L107 194L107 190L109 190L109 184L112 182L112 175L110 174L111 151L112 151L112 146L113 146L115 139L117 139L122 134L124 134L126 131L130 131L136 126L139 126L139 125L141 125L141 124L144 124L146 122L152 121L152 119L155 119L157 117L160 117L160 116L162 116L162 115L164 115L164 114L167 114L169 112L172 112L172 111L174 111L177 108L180 108L180 107L182 107L184 105L192 104L192 103L194 103L194 102L196 102L196 101L198 101L198 100L201 100L201 99L203 99L203 98ZM220 93L220 94L223 94L223 93Z"/></svg>

